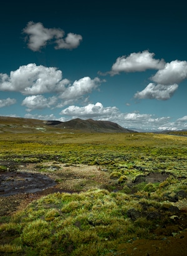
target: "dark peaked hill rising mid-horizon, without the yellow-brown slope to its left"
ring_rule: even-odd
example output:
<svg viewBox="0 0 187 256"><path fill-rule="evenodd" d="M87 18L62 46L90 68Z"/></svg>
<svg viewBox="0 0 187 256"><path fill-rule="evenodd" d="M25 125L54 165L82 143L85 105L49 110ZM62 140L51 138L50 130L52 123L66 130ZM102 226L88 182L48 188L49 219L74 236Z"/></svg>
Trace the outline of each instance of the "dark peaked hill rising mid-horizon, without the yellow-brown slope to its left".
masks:
<svg viewBox="0 0 187 256"><path fill-rule="evenodd" d="M73 129L73 130L81 130L85 132L95 132L95 133L130 133L135 132L133 130L128 130L118 125L117 123L113 123L112 121L101 121L101 120L82 120L80 118L72 119L70 121L45 121L46 125L57 126L58 128L64 129Z"/></svg>

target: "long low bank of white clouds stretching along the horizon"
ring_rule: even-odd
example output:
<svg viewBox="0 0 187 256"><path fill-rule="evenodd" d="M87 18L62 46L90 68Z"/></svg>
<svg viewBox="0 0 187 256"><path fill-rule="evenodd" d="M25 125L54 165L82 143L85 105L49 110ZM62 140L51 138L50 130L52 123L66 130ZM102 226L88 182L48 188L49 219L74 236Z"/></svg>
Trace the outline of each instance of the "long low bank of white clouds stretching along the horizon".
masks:
<svg viewBox="0 0 187 256"><path fill-rule="evenodd" d="M138 128L147 131L158 130L180 130L187 128L187 116L179 118L176 121L170 121L170 116L158 117L151 114L139 113L138 111L132 113L122 113L115 106L103 106L102 103L88 104L86 106L69 106L60 112L62 117L56 118L54 114L51 115L31 115L28 113L25 118L35 118L41 120L59 120L67 121L70 118L93 118L95 120L112 121L118 123L120 126L132 129Z"/></svg>

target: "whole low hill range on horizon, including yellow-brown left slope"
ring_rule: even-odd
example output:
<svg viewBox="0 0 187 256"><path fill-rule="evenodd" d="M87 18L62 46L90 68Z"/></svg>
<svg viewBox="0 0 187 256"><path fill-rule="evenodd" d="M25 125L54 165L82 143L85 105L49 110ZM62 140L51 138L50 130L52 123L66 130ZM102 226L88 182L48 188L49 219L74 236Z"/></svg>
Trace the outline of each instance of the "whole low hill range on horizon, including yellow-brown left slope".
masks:
<svg viewBox="0 0 187 256"><path fill-rule="evenodd" d="M136 133L112 121L82 120L69 121L37 120L0 116L0 133Z"/></svg>

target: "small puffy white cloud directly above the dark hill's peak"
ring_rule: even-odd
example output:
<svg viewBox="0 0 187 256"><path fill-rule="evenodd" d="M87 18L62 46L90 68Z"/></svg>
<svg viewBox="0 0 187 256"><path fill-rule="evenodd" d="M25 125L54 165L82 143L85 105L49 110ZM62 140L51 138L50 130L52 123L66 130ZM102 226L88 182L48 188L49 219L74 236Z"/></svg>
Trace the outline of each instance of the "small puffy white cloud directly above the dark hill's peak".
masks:
<svg viewBox="0 0 187 256"><path fill-rule="evenodd" d="M102 103L97 102L89 104L87 106L69 106L60 112L60 115L76 116L76 117L98 117L98 116L110 116L113 113L118 112L118 108L114 107L103 107Z"/></svg>

